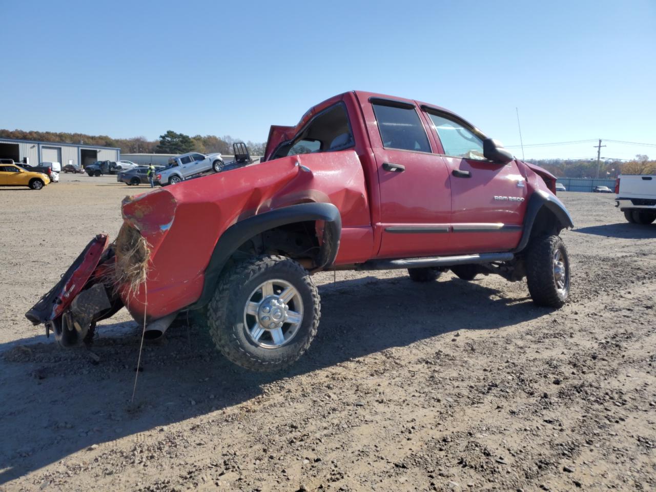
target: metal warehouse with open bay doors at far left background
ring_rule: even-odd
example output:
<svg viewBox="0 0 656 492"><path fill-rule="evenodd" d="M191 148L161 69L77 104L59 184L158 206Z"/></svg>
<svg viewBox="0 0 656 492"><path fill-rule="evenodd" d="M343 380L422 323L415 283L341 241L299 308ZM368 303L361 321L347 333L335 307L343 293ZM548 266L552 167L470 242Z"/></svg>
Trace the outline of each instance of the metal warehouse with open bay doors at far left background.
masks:
<svg viewBox="0 0 656 492"><path fill-rule="evenodd" d="M37 166L42 162L59 162L62 166L86 166L95 161L118 161L121 149L82 144L56 144L34 140L0 138L0 159Z"/></svg>

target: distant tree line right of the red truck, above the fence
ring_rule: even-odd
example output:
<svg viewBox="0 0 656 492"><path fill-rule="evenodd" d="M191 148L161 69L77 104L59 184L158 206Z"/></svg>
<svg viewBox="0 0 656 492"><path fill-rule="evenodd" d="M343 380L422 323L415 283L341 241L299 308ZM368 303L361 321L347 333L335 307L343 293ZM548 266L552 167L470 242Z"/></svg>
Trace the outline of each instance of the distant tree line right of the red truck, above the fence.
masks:
<svg viewBox="0 0 656 492"><path fill-rule="evenodd" d="M558 178L596 178L597 160L578 159L527 159ZM604 160L599 164L600 179L615 179L619 174L656 174L656 161L649 156L638 154L630 161Z"/></svg>

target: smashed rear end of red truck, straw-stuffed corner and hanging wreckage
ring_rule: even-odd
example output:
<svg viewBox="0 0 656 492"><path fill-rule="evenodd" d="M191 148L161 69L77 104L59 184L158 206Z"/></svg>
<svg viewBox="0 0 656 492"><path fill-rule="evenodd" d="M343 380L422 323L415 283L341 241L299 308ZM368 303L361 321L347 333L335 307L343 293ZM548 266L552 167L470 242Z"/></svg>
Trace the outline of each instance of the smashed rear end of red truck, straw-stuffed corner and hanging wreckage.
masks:
<svg viewBox="0 0 656 492"><path fill-rule="evenodd" d="M158 304L155 289L153 310L146 314L150 260L173 224L173 195L157 190L126 197L122 205L124 222L116 240L110 243L105 234L94 237L60 281L25 314L34 325L45 324L46 335L52 331L64 347L90 342L96 323L123 306L138 323L146 321L148 338L161 336L179 311L168 310L170 303Z"/></svg>

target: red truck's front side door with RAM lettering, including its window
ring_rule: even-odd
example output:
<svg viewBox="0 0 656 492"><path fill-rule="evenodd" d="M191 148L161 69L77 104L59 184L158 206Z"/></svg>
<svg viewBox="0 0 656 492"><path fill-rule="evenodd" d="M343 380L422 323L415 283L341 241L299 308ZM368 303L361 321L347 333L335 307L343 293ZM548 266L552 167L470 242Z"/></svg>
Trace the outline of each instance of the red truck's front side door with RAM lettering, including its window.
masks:
<svg viewBox="0 0 656 492"><path fill-rule="evenodd" d="M483 136L455 115L423 106L451 180L453 253L507 251L522 236L526 182L516 161L483 157Z"/></svg>

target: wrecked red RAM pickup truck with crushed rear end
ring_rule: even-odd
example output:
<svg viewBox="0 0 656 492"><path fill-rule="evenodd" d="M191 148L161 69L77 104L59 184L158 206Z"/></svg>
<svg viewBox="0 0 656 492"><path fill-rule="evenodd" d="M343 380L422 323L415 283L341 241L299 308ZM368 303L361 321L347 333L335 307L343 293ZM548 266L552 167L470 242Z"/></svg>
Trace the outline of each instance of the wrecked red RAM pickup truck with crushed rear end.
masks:
<svg viewBox="0 0 656 492"><path fill-rule="evenodd" d="M448 110L345 92L272 126L258 164L126 198L117 241L96 236L26 316L71 346L123 306L155 335L193 310L228 359L270 371L316 335L321 270L526 277L559 308L573 224L555 185Z"/></svg>

